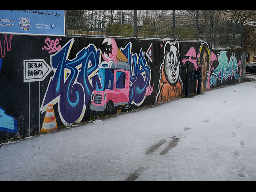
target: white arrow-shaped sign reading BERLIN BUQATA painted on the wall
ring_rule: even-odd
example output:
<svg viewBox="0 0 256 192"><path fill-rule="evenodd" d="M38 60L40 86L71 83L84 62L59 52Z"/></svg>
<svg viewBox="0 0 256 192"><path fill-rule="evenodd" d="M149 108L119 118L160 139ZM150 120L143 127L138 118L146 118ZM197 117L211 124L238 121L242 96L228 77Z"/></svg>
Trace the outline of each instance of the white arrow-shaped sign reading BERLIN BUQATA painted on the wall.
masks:
<svg viewBox="0 0 256 192"><path fill-rule="evenodd" d="M43 59L24 60L24 82L43 81L52 68Z"/></svg>

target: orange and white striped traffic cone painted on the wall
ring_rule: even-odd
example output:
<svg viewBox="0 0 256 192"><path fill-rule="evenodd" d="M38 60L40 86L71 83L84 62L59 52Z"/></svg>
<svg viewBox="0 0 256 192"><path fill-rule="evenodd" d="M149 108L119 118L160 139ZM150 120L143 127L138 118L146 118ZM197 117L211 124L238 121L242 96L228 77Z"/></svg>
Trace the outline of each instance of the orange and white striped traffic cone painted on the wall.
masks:
<svg viewBox="0 0 256 192"><path fill-rule="evenodd" d="M54 115L53 105L50 104L47 106L46 114L44 116L44 122L40 133L56 130L57 128L58 126Z"/></svg>

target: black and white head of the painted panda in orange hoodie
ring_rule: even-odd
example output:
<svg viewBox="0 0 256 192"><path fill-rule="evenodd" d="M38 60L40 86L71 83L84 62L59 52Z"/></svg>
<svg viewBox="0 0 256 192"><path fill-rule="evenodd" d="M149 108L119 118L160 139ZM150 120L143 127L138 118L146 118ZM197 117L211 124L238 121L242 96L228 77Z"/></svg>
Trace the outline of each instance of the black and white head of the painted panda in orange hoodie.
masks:
<svg viewBox="0 0 256 192"><path fill-rule="evenodd" d="M178 43L167 42L164 52L164 70L166 78L171 86L175 86L180 78Z"/></svg>

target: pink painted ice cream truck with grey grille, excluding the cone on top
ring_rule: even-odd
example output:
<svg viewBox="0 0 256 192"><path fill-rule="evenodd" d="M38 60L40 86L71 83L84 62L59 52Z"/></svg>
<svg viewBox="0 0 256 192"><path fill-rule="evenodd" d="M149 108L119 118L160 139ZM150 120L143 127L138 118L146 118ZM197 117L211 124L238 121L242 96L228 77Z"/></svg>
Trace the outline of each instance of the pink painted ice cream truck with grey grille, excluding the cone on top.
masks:
<svg viewBox="0 0 256 192"><path fill-rule="evenodd" d="M99 65L98 77L102 88L92 92L90 109L113 114L114 107L129 102L130 65L120 61L103 61Z"/></svg>

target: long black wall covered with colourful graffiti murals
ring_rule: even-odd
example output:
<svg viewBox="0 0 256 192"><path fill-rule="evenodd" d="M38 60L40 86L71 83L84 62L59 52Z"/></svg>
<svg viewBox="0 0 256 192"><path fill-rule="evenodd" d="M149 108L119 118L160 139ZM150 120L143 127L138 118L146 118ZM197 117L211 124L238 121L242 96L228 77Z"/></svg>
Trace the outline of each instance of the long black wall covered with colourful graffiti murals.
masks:
<svg viewBox="0 0 256 192"><path fill-rule="evenodd" d="M0 45L0 141L184 96L199 65L201 90L245 79L246 52L210 42L0 34Z"/></svg>

